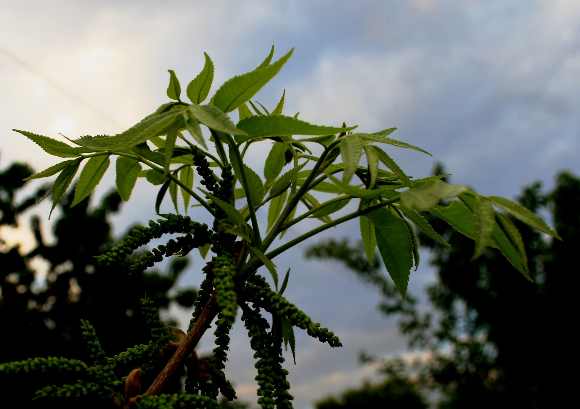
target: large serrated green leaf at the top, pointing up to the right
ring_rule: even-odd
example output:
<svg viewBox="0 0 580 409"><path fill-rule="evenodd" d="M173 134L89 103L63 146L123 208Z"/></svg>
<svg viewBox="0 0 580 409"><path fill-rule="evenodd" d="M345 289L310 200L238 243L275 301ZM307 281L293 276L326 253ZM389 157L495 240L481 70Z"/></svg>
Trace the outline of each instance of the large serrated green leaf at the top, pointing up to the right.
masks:
<svg viewBox="0 0 580 409"><path fill-rule="evenodd" d="M267 67L246 74L234 76L224 82L212 98L213 105L223 112L233 111L253 97L274 75L278 74L282 65L288 61L294 49L284 57ZM265 62L265 61L264 61Z"/></svg>

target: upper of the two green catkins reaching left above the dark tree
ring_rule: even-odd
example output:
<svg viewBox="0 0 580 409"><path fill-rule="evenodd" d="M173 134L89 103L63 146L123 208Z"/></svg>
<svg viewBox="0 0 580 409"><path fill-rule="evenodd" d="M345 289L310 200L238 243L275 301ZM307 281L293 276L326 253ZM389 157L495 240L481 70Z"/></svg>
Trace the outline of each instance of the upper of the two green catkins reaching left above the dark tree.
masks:
<svg viewBox="0 0 580 409"><path fill-rule="evenodd" d="M189 216L180 216L179 214L166 214L166 219L149 221L149 227L137 226L132 229L124 239L113 247L107 253L97 256L100 265L110 265L125 258L126 255L133 253L140 246L147 244L153 239L158 239L165 233L190 233L203 228L198 222L191 221ZM205 226L207 229L207 226Z"/></svg>

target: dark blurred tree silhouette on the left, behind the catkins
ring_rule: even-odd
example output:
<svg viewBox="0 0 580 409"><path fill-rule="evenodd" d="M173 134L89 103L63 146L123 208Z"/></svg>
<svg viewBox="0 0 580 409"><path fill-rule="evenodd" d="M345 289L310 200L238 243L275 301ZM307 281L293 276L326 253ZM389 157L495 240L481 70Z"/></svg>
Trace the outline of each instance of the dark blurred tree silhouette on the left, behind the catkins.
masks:
<svg viewBox="0 0 580 409"><path fill-rule="evenodd" d="M46 195L40 188L29 198L16 200L17 192L32 170L14 164L0 172L0 227L17 227L19 216ZM34 356L88 357L82 340L81 318L94 324L105 350L125 350L150 338L142 316L140 298L147 295L156 306L167 307L172 301L191 306L197 297L194 289L182 289L173 297L179 275L187 266L187 258L174 258L168 271L147 270L142 275L128 275L131 260L99 266L94 258L113 246L108 216L119 210L121 198L111 193L95 209L88 209L88 200L70 207L72 194L61 206L66 208L55 221L54 243L46 243L38 217L30 220L36 244L26 254L19 247L0 247L0 362L24 360ZM48 263L45 280L35 279L32 261L40 258ZM38 278L38 277L37 277ZM129 373L132 368L127 368ZM38 375L38 376L37 376ZM73 375L54 373L51 383L63 384ZM177 379L179 381L179 379ZM0 376L3 399L18 397L32 404L34 391L46 385L46 375ZM34 401L46 404L45 400ZM59 401L59 405L77 406L79 401ZM91 407L91 401L82 402ZM102 404L100 401L97 404Z"/></svg>

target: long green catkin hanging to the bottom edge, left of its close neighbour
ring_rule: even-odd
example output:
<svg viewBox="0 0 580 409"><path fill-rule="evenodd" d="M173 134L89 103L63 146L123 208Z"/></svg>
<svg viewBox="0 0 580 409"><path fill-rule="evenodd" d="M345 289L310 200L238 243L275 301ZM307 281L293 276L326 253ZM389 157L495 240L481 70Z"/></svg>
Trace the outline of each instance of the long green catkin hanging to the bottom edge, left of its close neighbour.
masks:
<svg viewBox="0 0 580 409"><path fill-rule="evenodd" d="M276 375L272 370L275 364L271 356L272 335L266 330L270 324L260 315L260 309L255 306L252 311L248 306L244 308L242 321L248 329L248 337L251 338L250 345L256 351L254 357L258 359L254 365L258 369L256 381L258 381L258 404L262 409L274 409L274 378Z"/></svg>

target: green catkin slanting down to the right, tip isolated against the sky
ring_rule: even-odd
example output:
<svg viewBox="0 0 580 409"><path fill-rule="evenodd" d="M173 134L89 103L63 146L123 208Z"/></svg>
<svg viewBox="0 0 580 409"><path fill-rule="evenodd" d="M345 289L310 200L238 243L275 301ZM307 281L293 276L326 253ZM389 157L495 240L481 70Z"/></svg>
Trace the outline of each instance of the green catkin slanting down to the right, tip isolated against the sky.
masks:
<svg viewBox="0 0 580 409"><path fill-rule="evenodd" d="M313 323L310 317L300 311L282 295L272 291L266 279L260 275L253 275L248 279L244 291L245 299L251 300L256 305L267 312L276 312L278 315L287 316L293 326L306 330L308 335L318 338L321 342L328 342L328 345L342 346L340 339L328 328L320 328L319 323Z"/></svg>

